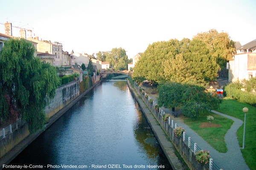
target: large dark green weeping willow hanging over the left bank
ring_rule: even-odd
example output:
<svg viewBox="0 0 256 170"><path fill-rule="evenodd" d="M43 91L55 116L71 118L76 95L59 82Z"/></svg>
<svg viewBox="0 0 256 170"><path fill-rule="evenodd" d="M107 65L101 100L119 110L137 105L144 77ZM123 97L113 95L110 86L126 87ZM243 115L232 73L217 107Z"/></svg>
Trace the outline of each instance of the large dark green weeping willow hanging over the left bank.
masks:
<svg viewBox="0 0 256 170"><path fill-rule="evenodd" d="M6 41L0 51L0 118L12 123L21 116L31 132L44 127L47 97L54 97L60 85L56 68L35 58L34 52L34 45L24 39Z"/></svg>

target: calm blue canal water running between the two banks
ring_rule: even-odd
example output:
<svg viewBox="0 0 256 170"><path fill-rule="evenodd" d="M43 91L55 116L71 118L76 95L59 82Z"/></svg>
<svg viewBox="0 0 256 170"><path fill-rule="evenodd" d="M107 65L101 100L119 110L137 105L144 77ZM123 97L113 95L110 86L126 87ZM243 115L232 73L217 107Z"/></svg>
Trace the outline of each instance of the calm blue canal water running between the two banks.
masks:
<svg viewBox="0 0 256 170"><path fill-rule="evenodd" d="M24 164L48 170L172 169L126 80L101 82L9 165Z"/></svg>

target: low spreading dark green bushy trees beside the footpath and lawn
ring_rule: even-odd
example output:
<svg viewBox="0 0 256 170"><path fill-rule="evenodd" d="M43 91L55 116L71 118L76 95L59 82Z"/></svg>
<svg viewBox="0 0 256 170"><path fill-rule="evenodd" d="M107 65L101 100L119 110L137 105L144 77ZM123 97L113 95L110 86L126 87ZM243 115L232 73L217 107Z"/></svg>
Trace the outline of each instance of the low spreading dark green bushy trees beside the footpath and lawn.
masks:
<svg viewBox="0 0 256 170"><path fill-rule="evenodd" d="M158 105L166 108L180 106L184 116L197 119L200 115L219 107L220 99L210 96L197 85L167 82L158 87Z"/></svg>

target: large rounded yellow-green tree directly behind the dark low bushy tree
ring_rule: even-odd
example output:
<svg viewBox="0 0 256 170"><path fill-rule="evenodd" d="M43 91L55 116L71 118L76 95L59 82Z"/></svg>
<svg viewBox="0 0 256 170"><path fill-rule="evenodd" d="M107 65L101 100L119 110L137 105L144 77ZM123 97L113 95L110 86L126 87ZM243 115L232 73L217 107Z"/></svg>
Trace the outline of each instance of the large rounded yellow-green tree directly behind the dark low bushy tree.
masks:
<svg viewBox="0 0 256 170"><path fill-rule="evenodd" d="M163 64L165 79L174 82L195 83L215 80L219 67L209 54L206 44L197 39L182 41L180 42L182 44L180 54L168 59Z"/></svg>

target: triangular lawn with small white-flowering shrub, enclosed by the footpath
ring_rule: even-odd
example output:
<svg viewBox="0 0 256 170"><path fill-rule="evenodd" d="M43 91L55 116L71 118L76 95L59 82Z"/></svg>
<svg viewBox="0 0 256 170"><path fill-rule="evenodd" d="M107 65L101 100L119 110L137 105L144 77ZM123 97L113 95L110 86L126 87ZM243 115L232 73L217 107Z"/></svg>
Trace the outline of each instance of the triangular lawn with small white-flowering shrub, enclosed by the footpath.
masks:
<svg viewBox="0 0 256 170"><path fill-rule="evenodd" d="M208 122L206 118L208 115L214 117L212 123L219 124L221 127L199 127L202 122ZM224 137L227 133L227 130L230 129L231 125L233 124L233 120L227 119L214 113L209 113L199 117L197 120L185 117L183 121L192 130L198 133L198 135L201 136L207 143L209 143L215 150L218 150L218 152L221 153L227 152L227 144L225 143Z"/></svg>

